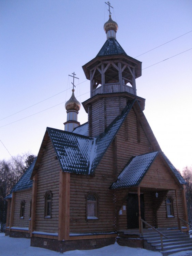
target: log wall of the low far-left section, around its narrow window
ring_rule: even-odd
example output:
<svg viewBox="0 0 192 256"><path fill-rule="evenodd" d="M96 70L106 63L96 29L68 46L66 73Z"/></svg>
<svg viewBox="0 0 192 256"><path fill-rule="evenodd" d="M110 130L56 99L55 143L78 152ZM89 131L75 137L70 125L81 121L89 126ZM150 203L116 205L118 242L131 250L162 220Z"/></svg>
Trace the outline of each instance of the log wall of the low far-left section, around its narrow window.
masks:
<svg viewBox="0 0 192 256"><path fill-rule="evenodd" d="M29 227L31 198L32 198L32 188L15 192L15 207L14 207L14 217L13 217L14 227L26 227L26 228ZM25 212L24 212L24 218L20 218L20 206L21 206L21 201L23 200L25 201Z"/></svg>

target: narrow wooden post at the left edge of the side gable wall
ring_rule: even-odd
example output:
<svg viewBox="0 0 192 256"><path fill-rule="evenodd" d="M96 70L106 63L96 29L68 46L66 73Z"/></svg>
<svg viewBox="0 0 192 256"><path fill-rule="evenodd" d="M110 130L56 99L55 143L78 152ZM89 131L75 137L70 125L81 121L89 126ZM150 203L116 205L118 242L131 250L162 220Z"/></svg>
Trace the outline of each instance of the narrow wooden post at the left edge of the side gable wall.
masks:
<svg viewBox="0 0 192 256"><path fill-rule="evenodd" d="M36 200L37 200L37 180L38 180L38 173L36 173L34 175L34 177L33 177L32 201L31 201L30 237L32 237L32 232L35 230Z"/></svg>

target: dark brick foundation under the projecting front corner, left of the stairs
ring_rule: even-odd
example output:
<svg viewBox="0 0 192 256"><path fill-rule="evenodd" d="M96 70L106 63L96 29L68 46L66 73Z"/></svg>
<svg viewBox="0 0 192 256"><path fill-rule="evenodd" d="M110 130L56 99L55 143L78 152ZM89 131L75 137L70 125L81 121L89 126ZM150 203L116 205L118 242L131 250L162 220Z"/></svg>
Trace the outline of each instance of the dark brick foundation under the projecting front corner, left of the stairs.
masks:
<svg viewBox="0 0 192 256"><path fill-rule="evenodd" d="M101 248L115 243L115 238L102 239L85 239L85 240L70 240L58 241L54 239L32 237L31 246L46 248L57 252L66 252L71 250L91 250Z"/></svg>

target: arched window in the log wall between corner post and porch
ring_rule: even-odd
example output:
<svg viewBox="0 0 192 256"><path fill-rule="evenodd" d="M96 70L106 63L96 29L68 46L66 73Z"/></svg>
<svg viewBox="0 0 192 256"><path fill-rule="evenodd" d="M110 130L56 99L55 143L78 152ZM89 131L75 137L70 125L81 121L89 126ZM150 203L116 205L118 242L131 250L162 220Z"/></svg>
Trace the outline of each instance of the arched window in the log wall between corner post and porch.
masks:
<svg viewBox="0 0 192 256"><path fill-rule="evenodd" d="M86 196L87 219L98 219L98 196L88 193Z"/></svg>

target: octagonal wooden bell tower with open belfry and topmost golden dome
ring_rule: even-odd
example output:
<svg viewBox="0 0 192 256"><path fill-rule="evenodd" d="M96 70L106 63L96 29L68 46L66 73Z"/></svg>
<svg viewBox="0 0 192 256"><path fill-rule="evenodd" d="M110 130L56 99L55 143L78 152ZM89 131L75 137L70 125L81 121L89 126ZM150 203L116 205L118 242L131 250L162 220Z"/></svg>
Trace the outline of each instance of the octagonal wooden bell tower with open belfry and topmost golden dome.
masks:
<svg viewBox="0 0 192 256"><path fill-rule="evenodd" d="M128 100L137 98L144 109L145 99L136 96L135 79L141 76L142 62L128 56L116 40L118 25L111 18L104 24L107 40L97 56L83 66L90 80L90 99L83 102L88 113L89 136L95 137L119 115Z"/></svg>

